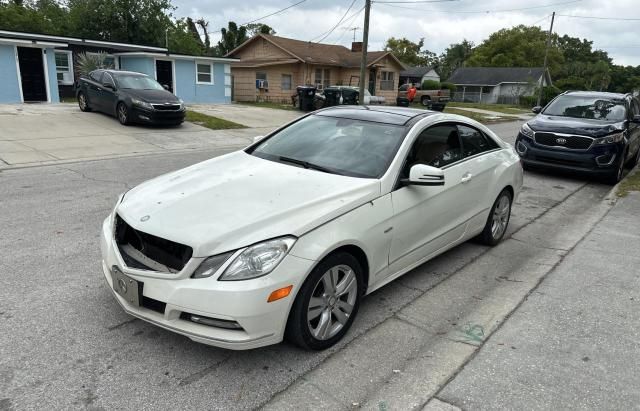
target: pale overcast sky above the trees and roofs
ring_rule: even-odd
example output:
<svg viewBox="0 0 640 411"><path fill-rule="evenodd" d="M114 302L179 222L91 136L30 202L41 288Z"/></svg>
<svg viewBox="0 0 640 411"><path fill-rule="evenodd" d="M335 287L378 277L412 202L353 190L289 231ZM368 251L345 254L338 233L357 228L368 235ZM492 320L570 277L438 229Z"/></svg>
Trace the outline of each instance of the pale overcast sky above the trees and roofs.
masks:
<svg viewBox="0 0 640 411"><path fill-rule="evenodd" d="M300 0L173 0L177 17L204 17L209 30L217 31L232 20L245 23L276 12ZM354 0L306 0L280 14L260 22L277 34L299 40L321 39L330 31ZM383 0L381 0L383 1ZM454 0L434 3L415 0L384 0L371 8L369 50L381 50L389 37L425 38L425 47L440 54L449 44L466 38L480 44L489 34L518 24L537 24L548 29L551 12L556 11L554 32L587 38L606 50L616 64L640 65L640 0ZM359 27L361 40L364 0L355 0L345 20L322 42L349 46L353 31ZM508 10L508 11L507 11ZM570 18L595 16L637 18L638 21ZM351 17L351 18L350 18ZM212 33L212 43L219 39Z"/></svg>

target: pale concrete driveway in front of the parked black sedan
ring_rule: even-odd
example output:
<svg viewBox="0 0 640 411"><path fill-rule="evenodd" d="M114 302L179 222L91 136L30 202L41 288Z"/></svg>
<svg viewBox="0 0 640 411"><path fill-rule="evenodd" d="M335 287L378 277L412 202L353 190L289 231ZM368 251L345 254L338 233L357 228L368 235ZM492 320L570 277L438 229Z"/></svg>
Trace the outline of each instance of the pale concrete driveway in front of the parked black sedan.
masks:
<svg viewBox="0 0 640 411"><path fill-rule="evenodd" d="M75 104L1 105L0 168L242 147L275 128L262 127L210 130L188 122L168 128L122 126L113 117L83 113Z"/></svg>

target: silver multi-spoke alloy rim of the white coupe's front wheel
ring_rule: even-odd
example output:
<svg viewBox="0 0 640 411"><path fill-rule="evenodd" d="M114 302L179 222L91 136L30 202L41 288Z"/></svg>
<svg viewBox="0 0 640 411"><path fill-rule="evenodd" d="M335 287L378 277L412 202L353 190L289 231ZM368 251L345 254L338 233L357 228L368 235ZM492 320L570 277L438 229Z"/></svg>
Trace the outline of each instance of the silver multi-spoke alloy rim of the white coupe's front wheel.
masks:
<svg viewBox="0 0 640 411"><path fill-rule="evenodd" d="M314 338L328 340L345 326L358 296L353 269L337 265L327 270L315 285L307 307L307 325Z"/></svg>

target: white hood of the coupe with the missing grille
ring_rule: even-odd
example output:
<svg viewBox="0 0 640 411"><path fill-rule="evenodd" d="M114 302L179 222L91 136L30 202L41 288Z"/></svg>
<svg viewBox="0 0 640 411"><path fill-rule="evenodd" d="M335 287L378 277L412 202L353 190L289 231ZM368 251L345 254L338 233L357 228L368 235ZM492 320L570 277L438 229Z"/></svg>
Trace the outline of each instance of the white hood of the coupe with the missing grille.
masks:
<svg viewBox="0 0 640 411"><path fill-rule="evenodd" d="M238 151L140 184L117 212L136 230L189 245L195 257L205 257L300 236L379 195L379 180Z"/></svg>

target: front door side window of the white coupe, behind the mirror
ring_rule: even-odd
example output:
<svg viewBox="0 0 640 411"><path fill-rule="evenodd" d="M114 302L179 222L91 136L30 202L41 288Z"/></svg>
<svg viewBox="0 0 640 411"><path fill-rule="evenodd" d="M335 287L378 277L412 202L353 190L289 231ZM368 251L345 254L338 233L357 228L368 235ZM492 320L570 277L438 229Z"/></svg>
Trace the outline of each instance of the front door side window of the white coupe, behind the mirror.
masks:
<svg viewBox="0 0 640 411"><path fill-rule="evenodd" d="M415 164L444 167L462 158L458 128L454 124L430 127L413 143L403 175L408 176L409 169Z"/></svg>

